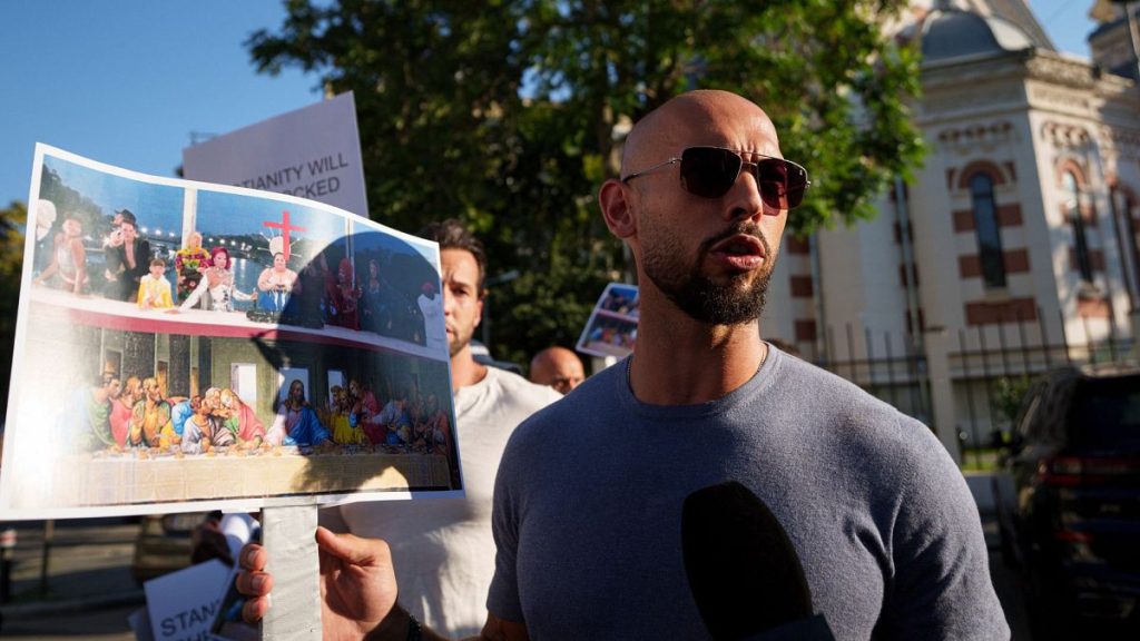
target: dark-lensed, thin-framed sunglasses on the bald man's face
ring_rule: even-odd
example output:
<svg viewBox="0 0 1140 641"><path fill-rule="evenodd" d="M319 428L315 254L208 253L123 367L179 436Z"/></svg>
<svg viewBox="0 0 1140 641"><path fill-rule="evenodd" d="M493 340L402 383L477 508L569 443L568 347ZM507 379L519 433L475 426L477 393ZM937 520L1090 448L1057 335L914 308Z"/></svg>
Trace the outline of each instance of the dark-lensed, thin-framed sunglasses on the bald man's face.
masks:
<svg viewBox="0 0 1140 641"><path fill-rule="evenodd" d="M638 176L656 171L667 164L681 163L681 186L703 198L719 198L736 184L744 168L756 179L760 200L772 209L789 210L799 206L804 192L812 185L807 170L783 159L765 156L759 162L748 162L732 149L722 147L689 147L681 157L673 157L643 171L635 171L621 179L629 182Z"/></svg>

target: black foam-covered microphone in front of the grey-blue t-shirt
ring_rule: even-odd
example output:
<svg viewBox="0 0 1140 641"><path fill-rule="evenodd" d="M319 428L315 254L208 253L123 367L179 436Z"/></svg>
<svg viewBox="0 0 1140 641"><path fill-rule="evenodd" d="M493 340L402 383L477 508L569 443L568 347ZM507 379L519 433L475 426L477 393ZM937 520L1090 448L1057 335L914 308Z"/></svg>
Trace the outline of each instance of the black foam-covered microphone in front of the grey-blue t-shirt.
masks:
<svg viewBox="0 0 1140 641"><path fill-rule="evenodd" d="M681 549L689 589L716 640L833 641L799 555L780 520L743 485L727 481L685 497Z"/></svg>

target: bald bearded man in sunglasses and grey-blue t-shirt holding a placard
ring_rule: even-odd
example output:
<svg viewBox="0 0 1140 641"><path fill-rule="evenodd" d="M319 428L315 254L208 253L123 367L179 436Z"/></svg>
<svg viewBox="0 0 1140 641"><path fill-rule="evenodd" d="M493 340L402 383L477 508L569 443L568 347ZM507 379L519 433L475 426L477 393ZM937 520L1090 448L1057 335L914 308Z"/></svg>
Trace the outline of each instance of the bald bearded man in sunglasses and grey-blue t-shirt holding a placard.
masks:
<svg viewBox="0 0 1140 641"><path fill-rule="evenodd" d="M728 480L780 522L837 639L1009 639L977 508L930 430L760 339L807 187L764 111L734 94L682 95L630 131L598 203L635 258L637 351L512 436L484 639L709 638L682 506ZM432 638L396 606L399 559L383 542L317 538L323 562L348 570L323 574L326 636ZM243 557L251 617L268 607L266 560ZM779 620L765 605L726 615Z"/></svg>

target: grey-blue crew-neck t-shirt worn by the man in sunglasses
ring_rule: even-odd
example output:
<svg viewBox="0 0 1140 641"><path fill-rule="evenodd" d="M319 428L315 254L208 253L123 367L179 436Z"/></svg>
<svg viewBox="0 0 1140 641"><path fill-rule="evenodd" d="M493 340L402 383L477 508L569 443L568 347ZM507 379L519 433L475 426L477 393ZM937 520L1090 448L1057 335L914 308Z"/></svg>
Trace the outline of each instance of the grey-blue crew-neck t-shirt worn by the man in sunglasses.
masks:
<svg viewBox="0 0 1140 641"><path fill-rule="evenodd" d="M643 404L619 363L520 425L488 609L534 640L708 638L681 513L726 480L788 532L837 639L1009 638L977 508L930 430L775 348L711 403Z"/></svg>

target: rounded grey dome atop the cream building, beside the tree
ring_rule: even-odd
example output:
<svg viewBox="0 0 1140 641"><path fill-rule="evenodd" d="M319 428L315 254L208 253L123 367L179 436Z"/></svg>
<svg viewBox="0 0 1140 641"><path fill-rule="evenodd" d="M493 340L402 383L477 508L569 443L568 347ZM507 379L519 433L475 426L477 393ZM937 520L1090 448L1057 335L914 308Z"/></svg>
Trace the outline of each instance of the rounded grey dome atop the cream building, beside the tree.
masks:
<svg viewBox="0 0 1140 641"><path fill-rule="evenodd" d="M1028 34L1011 22L953 8L938 8L927 14L921 24L921 38L926 64L1033 47Z"/></svg>

